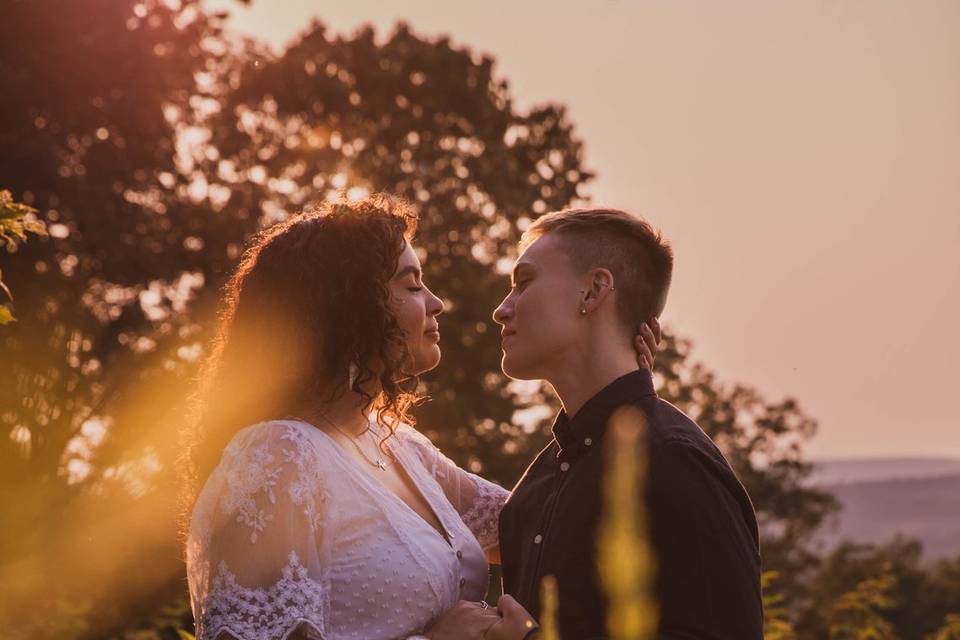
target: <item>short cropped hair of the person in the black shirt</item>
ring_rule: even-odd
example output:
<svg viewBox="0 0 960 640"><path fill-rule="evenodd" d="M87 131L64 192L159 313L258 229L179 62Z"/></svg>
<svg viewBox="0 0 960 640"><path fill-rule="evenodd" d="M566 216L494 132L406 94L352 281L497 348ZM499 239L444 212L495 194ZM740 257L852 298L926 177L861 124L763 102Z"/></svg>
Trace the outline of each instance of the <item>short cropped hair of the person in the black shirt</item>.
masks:
<svg viewBox="0 0 960 640"><path fill-rule="evenodd" d="M603 267L613 274L617 311L630 327L663 312L673 275L673 249L643 218L619 209L555 211L527 228L520 250L548 233L564 239L577 271Z"/></svg>

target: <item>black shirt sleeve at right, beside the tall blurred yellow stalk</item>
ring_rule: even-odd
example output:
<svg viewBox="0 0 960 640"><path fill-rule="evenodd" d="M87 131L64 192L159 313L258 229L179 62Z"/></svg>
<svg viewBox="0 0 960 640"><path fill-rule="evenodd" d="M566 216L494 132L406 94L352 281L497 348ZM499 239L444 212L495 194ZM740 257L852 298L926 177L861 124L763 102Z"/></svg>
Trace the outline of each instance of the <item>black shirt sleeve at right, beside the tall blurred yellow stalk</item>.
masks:
<svg viewBox="0 0 960 640"><path fill-rule="evenodd" d="M721 464L684 442L650 461L661 640L762 640L760 558Z"/></svg>

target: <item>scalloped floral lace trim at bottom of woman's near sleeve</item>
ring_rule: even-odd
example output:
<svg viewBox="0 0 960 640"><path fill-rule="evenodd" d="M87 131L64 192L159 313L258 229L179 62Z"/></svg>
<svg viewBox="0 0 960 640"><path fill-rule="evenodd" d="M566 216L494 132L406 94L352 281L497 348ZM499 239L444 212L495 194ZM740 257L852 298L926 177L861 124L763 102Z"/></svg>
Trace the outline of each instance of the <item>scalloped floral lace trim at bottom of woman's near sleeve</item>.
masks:
<svg viewBox="0 0 960 640"><path fill-rule="evenodd" d="M323 586L307 575L293 551L281 575L269 588L251 589L221 562L197 621L197 639L229 633L237 640L284 640L305 626L307 637L319 640L325 628Z"/></svg>

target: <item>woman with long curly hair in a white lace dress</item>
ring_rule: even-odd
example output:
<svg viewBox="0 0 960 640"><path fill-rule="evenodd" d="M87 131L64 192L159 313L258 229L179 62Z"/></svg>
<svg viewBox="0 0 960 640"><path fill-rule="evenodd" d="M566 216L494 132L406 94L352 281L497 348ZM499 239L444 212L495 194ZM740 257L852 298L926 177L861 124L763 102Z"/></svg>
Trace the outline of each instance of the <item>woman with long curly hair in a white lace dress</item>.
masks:
<svg viewBox="0 0 960 640"><path fill-rule="evenodd" d="M198 640L500 619L482 598L508 492L410 426L443 311L416 227L384 196L327 204L263 231L229 280L185 448Z"/></svg>

